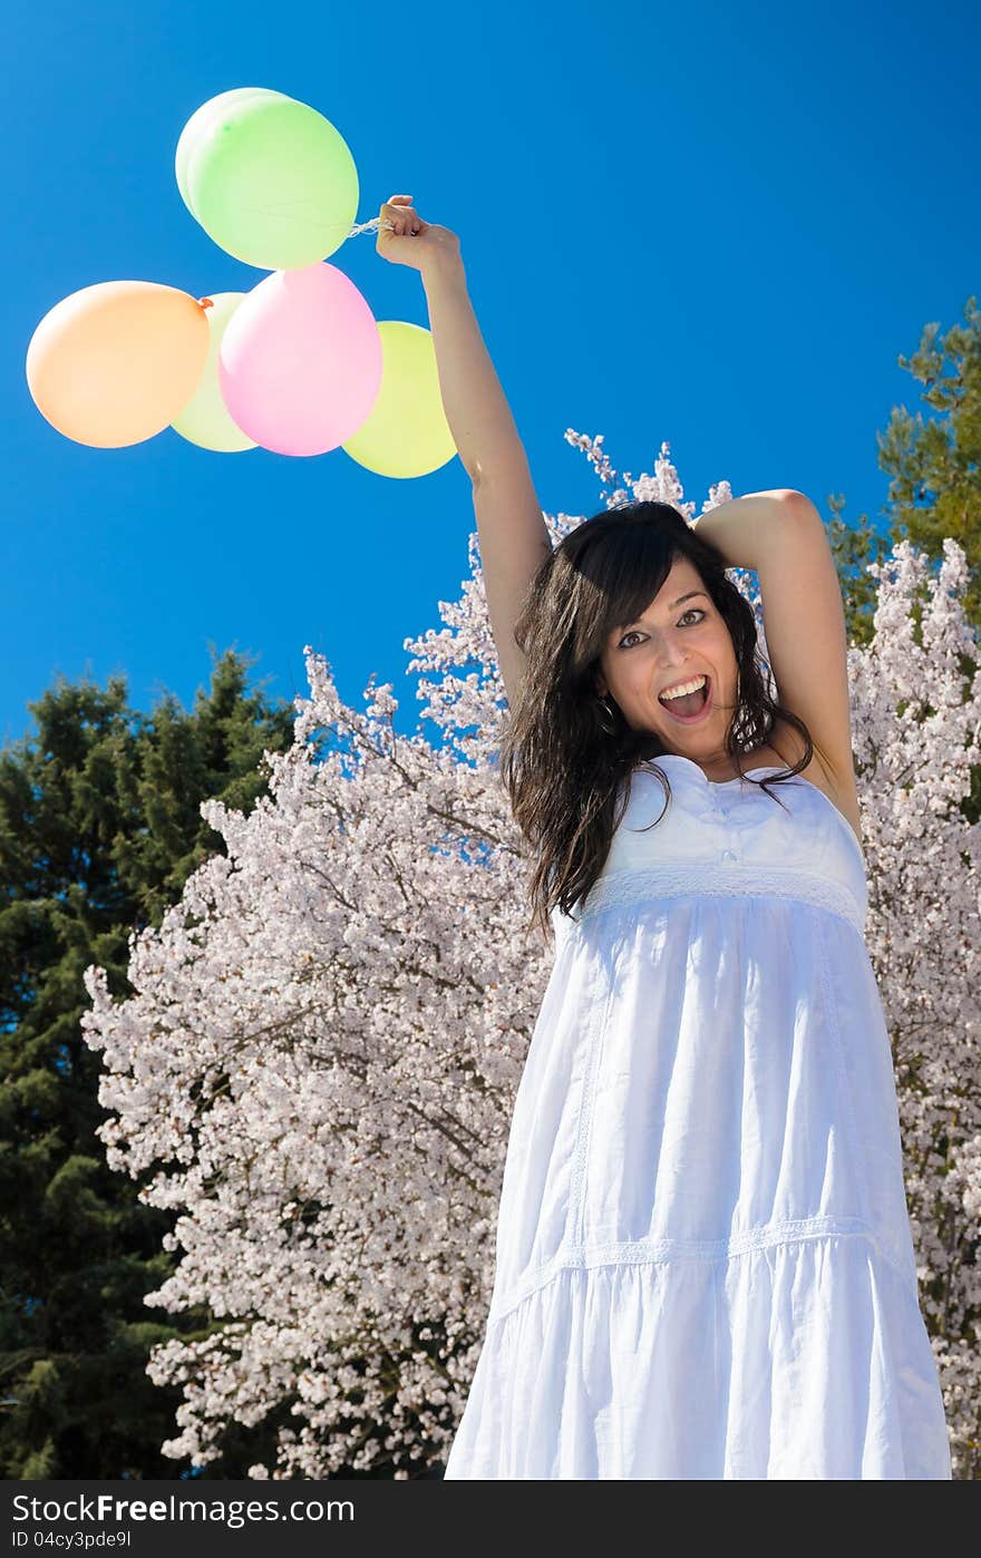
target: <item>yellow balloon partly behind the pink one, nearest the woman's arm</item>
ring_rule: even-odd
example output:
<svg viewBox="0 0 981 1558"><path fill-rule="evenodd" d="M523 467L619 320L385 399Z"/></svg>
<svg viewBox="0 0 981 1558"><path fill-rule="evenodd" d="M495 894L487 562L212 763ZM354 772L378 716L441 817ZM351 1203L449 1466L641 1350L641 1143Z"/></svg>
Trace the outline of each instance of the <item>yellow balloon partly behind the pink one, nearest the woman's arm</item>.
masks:
<svg viewBox="0 0 981 1558"><path fill-rule="evenodd" d="M381 477L424 477L457 453L437 374L432 332L381 319L382 386L345 453Z"/></svg>

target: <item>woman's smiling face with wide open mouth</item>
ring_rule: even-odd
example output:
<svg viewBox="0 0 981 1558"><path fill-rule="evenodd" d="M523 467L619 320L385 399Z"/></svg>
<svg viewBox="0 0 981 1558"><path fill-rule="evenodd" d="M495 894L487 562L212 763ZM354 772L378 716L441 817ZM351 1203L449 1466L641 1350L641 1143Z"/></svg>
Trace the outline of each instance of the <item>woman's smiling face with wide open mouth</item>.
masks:
<svg viewBox="0 0 981 1558"><path fill-rule="evenodd" d="M692 594L697 592L697 594ZM680 600L691 595L689 600ZM635 731L655 731L666 751L699 763L727 762L725 731L736 706L733 640L699 570L678 558L647 611L610 634L599 661L600 696L619 704ZM708 703L694 718L658 701L680 682L708 678Z"/></svg>

